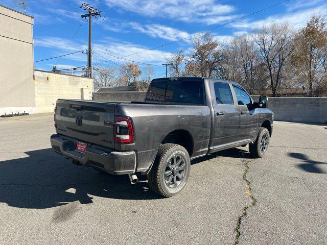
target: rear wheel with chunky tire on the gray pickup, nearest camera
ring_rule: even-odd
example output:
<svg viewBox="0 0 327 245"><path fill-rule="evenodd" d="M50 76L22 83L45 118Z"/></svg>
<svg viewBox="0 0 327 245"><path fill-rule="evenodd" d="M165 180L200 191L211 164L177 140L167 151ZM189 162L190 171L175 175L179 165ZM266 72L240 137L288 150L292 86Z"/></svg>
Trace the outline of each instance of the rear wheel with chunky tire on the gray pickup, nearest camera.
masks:
<svg viewBox="0 0 327 245"><path fill-rule="evenodd" d="M188 182L190 168L190 156L183 146L172 143L161 144L147 176L149 186L159 195L173 197Z"/></svg>

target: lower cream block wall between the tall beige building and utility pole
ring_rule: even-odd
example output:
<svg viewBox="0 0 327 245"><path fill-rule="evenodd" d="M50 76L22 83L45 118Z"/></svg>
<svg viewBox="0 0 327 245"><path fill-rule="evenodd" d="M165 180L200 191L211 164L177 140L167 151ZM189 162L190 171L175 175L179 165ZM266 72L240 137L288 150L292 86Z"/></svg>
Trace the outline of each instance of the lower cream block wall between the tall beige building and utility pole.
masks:
<svg viewBox="0 0 327 245"><path fill-rule="evenodd" d="M93 79L35 70L36 113L52 112L58 99L92 100Z"/></svg>

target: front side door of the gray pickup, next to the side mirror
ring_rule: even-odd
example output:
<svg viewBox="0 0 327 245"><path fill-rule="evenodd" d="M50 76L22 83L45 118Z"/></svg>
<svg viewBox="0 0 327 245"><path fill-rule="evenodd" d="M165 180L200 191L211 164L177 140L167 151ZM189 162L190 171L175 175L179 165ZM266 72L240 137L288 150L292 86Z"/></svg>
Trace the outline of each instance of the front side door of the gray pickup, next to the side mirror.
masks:
<svg viewBox="0 0 327 245"><path fill-rule="evenodd" d="M258 114L255 114L255 108L250 95L244 88L237 84L232 85L236 95L238 110L240 113L239 140L254 139L258 132Z"/></svg>

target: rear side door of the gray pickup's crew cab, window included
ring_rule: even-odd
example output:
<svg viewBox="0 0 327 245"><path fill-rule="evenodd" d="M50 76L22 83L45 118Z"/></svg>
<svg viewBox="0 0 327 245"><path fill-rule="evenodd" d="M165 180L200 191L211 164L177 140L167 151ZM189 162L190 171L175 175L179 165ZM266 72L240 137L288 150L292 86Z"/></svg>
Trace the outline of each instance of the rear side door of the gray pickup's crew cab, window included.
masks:
<svg viewBox="0 0 327 245"><path fill-rule="evenodd" d="M213 82L213 107L215 117L215 133L213 148L220 148L238 140L240 113L233 101L231 88L226 82Z"/></svg>

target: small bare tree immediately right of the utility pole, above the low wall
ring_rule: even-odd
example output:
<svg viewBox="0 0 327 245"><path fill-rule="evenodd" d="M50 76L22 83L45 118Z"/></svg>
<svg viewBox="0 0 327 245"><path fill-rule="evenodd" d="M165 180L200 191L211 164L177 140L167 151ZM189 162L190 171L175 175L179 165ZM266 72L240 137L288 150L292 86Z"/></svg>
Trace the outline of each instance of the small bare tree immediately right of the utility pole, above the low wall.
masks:
<svg viewBox="0 0 327 245"><path fill-rule="evenodd" d="M99 67L96 69L96 74L94 76L94 85L96 88L101 87L112 87L121 84L119 78L119 69L116 67Z"/></svg>

